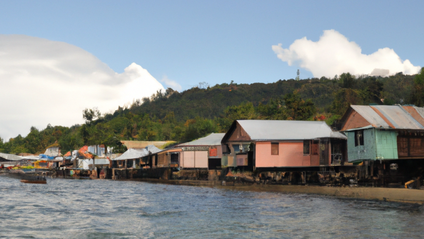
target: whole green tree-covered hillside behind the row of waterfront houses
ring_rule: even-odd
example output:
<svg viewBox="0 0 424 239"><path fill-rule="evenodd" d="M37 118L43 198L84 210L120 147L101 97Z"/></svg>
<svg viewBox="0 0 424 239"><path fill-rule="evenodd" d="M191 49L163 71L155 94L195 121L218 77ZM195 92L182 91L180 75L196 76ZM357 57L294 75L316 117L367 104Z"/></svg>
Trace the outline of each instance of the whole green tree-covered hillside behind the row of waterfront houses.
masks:
<svg viewBox="0 0 424 239"><path fill-rule="evenodd" d="M274 83L213 87L200 83L183 92L168 88L113 114L86 109L83 125L31 127L26 137L4 142L0 152L39 154L58 141L62 151L83 145L119 146L120 140L189 141L210 132L226 132L235 119L325 120L335 126L350 105L424 106L424 68L411 76L355 77L349 73Z"/></svg>

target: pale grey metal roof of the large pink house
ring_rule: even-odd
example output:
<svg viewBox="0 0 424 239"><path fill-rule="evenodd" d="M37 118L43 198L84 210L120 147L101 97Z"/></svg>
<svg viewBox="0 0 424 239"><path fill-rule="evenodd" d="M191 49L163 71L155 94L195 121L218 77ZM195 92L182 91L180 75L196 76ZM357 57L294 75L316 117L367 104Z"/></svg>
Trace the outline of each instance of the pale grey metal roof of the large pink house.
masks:
<svg viewBox="0 0 424 239"><path fill-rule="evenodd" d="M334 134L324 121L295 120L237 120L252 140L300 140L335 137L347 137Z"/></svg>

